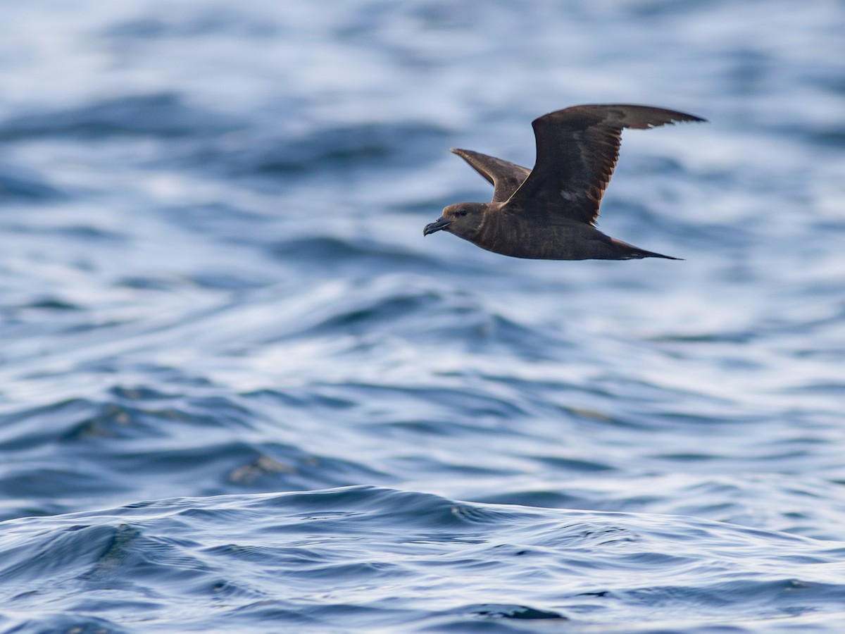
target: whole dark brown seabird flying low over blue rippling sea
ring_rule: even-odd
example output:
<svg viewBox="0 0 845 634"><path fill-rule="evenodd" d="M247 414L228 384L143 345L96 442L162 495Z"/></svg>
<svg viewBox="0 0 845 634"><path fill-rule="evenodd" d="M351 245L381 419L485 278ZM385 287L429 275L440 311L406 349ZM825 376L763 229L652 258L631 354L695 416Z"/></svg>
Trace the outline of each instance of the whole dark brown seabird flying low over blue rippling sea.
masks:
<svg viewBox="0 0 845 634"><path fill-rule="evenodd" d="M423 235L454 233L482 249L537 260L666 258L600 232L602 194L619 158L623 128L705 121L650 106L573 106L534 119L534 169L471 150L452 150L493 184L489 203L458 203Z"/></svg>

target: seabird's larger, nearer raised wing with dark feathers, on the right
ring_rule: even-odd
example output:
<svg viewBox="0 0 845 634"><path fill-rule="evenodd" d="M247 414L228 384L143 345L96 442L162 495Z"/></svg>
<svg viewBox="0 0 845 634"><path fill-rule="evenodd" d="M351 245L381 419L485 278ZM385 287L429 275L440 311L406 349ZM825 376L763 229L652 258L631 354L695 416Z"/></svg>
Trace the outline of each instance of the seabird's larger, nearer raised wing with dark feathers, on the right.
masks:
<svg viewBox="0 0 845 634"><path fill-rule="evenodd" d="M574 106L534 119L537 161L506 207L593 224L619 158L623 128L704 121L649 106ZM513 204L513 205L512 205Z"/></svg>

